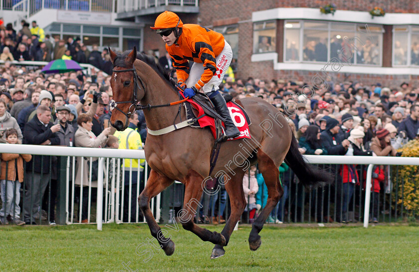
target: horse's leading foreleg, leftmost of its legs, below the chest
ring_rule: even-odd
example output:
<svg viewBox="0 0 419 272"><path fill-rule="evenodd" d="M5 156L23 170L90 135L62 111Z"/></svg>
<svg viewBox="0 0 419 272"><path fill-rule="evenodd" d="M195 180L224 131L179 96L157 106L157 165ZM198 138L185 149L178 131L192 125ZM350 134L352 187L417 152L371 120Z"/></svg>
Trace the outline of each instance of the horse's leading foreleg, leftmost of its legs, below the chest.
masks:
<svg viewBox="0 0 419 272"><path fill-rule="evenodd" d="M146 218L151 235L157 239L160 247L165 251L167 256L171 256L175 252L175 243L173 243L170 238L165 238L162 234L161 229L151 212L150 200L160 194L172 183L173 180L166 176L161 176L156 171L151 170L149 179L147 180L147 185L138 197L138 204L144 214L144 217Z"/></svg>

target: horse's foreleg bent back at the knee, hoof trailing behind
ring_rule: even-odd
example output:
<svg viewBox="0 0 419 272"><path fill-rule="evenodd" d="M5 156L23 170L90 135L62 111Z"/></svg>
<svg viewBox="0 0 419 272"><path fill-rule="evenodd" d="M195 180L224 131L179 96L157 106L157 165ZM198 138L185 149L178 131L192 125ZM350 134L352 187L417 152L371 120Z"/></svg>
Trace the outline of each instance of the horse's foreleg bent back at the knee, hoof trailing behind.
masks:
<svg viewBox="0 0 419 272"><path fill-rule="evenodd" d="M185 230L196 234L202 241L224 246L225 238L217 232L198 227L194 223L194 216L202 196L202 182L204 178L196 171L191 170L185 179L185 199L183 210L178 214L179 220Z"/></svg>

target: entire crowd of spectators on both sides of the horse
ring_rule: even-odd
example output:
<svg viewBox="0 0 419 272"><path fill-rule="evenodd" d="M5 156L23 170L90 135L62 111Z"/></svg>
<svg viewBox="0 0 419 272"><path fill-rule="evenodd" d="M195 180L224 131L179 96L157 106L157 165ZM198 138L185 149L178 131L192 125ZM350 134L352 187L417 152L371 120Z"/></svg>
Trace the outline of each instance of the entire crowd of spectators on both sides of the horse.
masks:
<svg viewBox="0 0 419 272"><path fill-rule="evenodd" d="M32 28L36 29L36 22L32 24ZM37 30L38 34L41 32L39 29ZM15 33L14 38L9 37L13 33L11 30L6 30L4 33L7 34L7 37L2 40L3 53L5 47L9 49L13 47L10 52L15 53L20 46L21 49L24 49L23 51L28 51L30 56L30 50L27 50L26 46L28 44L29 47L33 46L32 41L34 40L40 42L39 37L26 38L24 32ZM28 39L30 43L28 43ZM19 42L14 42L15 40ZM47 40L48 37L45 35L43 42L45 43ZM13 46L10 46L11 44ZM75 44L78 47L76 44L80 43L74 40L65 44L65 42L57 40L55 44L58 44L59 48L63 46L65 50L61 51L64 53L70 50L69 55L72 55L72 45ZM22 45L25 47L23 48ZM75 49L74 52L79 51ZM92 53L97 55L95 59L100 59L98 63L105 62L106 51L104 54L98 50ZM52 53L51 57L55 58L55 56L56 54ZM156 58L156 62L160 62L166 68L172 67L171 59L167 56ZM105 76L102 71L92 70L91 75L83 74L81 71L43 74L40 70L31 70L6 61L0 67L0 72L0 125L4 141L8 141L6 138L7 129L14 129L17 142L23 144L118 148L118 146L121 147L121 139L123 139L122 148L141 148L141 145L138 144L125 143L126 139L130 137L128 134L115 134L119 144L115 144L115 139L111 137L113 133L109 128L111 117L109 101L112 99L112 90L109 82L110 76ZM172 75L176 76L176 73L172 73ZM363 82L328 82L328 84L323 84L323 88L310 94L308 99L302 93L307 94L311 91L308 88L302 89L304 85L304 82L282 79L267 81L260 78L247 78L247 80L243 80L226 76L224 83L220 85L220 90L235 98L260 97L277 107L288 116L289 125L299 140L302 154L395 156L398 148L418 135L419 88L412 87L409 83L404 82L399 88L390 89L380 83L365 85ZM138 133L138 137L135 134L135 139L139 138L141 143L145 143L147 129L142 111L133 115L129 128ZM23 157L23 159L26 160L27 157ZM5 160L1 163L4 162ZM90 167L89 164L88 158L77 158L75 179L78 189L76 188L75 195L83 196L83 202L79 205L83 210L81 217L78 218L80 222L89 221L86 213L87 203L84 202L87 199L88 191L80 192L83 190L83 186L87 185L89 174L86 171ZM81 170L82 165L83 171ZM24 206L26 207L23 207L23 220L26 224L34 224L36 219L44 220L46 215L48 215L50 223L54 224L56 166L57 158L54 156L36 155L27 162L23 179L20 176L11 179L25 182L24 203L26 204ZM286 170L281 172L283 173L283 187L291 186L292 172L286 165L284 167ZM52 171L50 172L49 169ZM338 192L336 194L338 198L342 198L335 200L336 209L340 212L334 219L318 217L317 220L321 222L355 220L351 205L348 203L353 199L354 192L360 190L359 180L364 176L364 173L354 165L343 165L335 172L340 177L340 181L334 188ZM383 179L382 173L384 173ZM377 190L378 192L385 190L386 186L389 186L387 183L390 180L386 173L388 173L386 167L375 169L377 177L373 182L374 193L377 193ZM128 180L129 173L124 173L124 175ZM141 174L140 176L140 180L143 182L144 177ZM254 177L257 177L257 181L253 179ZM264 190L266 186L263 185L263 178L257 170L255 173L251 172L247 179L249 180L245 184L252 188L246 190L249 196L248 200L250 200L246 211L249 219L254 219L266 202L265 194L267 192ZM51 189L47 188L49 180L51 180ZM215 185L210 187L213 189ZM39 195L43 196L46 190L51 190L52 205L49 206L45 206L45 198L39 199ZM125 183L121 190L125 190L128 196L129 184ZM131 206L131 210L134 210L135 198L135 195L128 196L126 201L131 200L125 203L125 207ZM80 202L80 199L76 198L76 201ZM319 197L317 201L321 203L324 199ZM376 198L373 197L372 206L376 207L374 201ZM210 223L206 220L207 216L223 215L225 202L225 189L221 190L219 198L217 195L206 200L205 203L208 207L204 207L200 211L201 218L204 219L203 222ZM31 207L29 207L29 203ZM221 205L215 205L215 203ZM278 223L283 220L284 209L287 209L287 205L284 203L281 200L280 206L278 206L280 208L277 208L271 215L268 219L269 222ZM340 206L339 203L342 205ZM324 206L316 205L316 209L321 209L319 207ZM46 210L48 211L46 212ZM371 220L375 221L377 214L374 209L372 211ZM129 215L127 210L124 220L132 222L138 218L138 213L140 212L136 211ZM317 214L324 215L325 211L321 213L319 210ZM16 219L16 215L13 213L4 213L3 217L4 215L9 216L10 222ZM197 221L200 221L199 217ZM220 217L212 220L212 223L223 221L224 218ZM19 223L17 220L16 222Z"/></svg>

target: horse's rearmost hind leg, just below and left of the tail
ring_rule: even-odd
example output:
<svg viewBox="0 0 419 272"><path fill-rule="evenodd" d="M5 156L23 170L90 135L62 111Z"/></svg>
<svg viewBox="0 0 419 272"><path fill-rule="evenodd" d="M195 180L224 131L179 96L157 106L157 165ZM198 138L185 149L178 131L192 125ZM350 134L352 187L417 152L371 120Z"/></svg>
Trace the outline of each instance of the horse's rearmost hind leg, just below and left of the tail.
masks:
<svg viewBox="0 0 419 272"><path fill-rule="evenodd" d="M262 173L266 187L268 188L268 199L266 201L266 206L252 224L252 230L249 235L249 248L251 251L255 251L260 247L262 240L260 239L259 232L262 230L265 220L276 207L276 204L278 204L279 199L284 193L279 182L278 167L276 167L272 159L261 150L257 152L257 159L259 170Z"/></svg>

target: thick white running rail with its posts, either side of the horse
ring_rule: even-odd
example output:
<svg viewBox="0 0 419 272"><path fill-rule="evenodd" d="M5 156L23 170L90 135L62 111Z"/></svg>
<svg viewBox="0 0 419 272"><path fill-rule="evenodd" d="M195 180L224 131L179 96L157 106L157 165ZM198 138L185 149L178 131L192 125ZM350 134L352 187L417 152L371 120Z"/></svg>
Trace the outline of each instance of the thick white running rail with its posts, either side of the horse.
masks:
<svg viewBox="0 0 419 272"><path fill-rule="evenodd" d="M75 156L75 157L99 157L98 169L98 188L103 188L103 158L120 159L145 159L143 150L126 149L100 149L100 148L81 148L81 147L61 147L61 146L38 146L38 145L10 145L0 144L0 152L4 153L23 153L32 155L52 155L52 156ZM311 164L355 164L369 165L367 170L364 227L368 227L370 212L371 176L374 165L419 165L419 158L411 157L370 157L370 156L315 156L305 155L305 159ZM147 182L147 176L145 179ZM68 188L68 187L67 187ZM102 194L98 190L97 198L97 223L98 230L102 228ZM160 200L157 201L156 217L160 217ZM100 211L100 213L99 213Z"/></svg>

